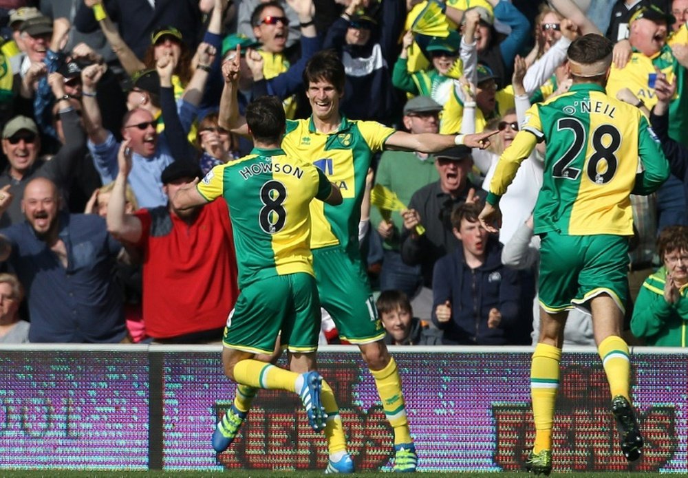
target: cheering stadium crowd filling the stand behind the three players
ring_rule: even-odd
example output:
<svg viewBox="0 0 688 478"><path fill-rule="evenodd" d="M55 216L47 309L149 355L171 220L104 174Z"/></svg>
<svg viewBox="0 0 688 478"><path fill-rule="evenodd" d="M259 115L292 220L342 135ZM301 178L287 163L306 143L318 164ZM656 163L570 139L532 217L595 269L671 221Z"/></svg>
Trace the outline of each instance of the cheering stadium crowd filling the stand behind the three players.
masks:
<svg viewBox="0 0 688 478"><path fill-rule="evenodd" d="M239 296L228 208L171 199L252 151L221 126L224 62L239 56L239 113L271 95L287 118L308 118L303 71L330 49L347 119L497 131L485 150L374 156L350 242L380 292L387 343L536 343L531 213L546 144L502 197L499 234L478 215L526 110L567 94L568 46L597 33L615 43L608 94L660 123L674 173L631 198L627 338L685 347L687 21L688 0L0 1L0 343L222 340ZM343 197L361 187L313 162ZM336 343L329 323L322 340ZM594 345L590 315L570 312L564 338Z"/></svg>

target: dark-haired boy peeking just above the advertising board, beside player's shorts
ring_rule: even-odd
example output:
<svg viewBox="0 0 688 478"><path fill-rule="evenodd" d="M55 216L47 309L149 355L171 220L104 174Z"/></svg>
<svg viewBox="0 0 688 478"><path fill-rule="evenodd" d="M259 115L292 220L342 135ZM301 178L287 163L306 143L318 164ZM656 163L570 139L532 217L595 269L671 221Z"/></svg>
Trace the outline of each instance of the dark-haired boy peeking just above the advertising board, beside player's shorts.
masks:
<svg viewBox="0 0 688 478"><path fill-rule="evenodd" d="M420 318L413 316L413 309L406 294L400 290L386 290L375 303L378 316L387 330L387 345L438 345L437 334Z"/></svg>

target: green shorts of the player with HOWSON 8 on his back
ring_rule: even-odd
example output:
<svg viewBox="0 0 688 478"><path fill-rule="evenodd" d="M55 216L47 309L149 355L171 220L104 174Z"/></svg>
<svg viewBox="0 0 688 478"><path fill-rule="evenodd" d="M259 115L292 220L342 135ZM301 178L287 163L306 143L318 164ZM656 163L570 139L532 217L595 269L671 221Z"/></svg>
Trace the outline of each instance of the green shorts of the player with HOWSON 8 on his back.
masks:
<svg viewBox="0 0 688 478"><path fill-rule="evenodd" d="M305 272L272 276L241 290L222 342L230 349L272 354L280 335L282 349L313 352L318 349L320 323L313 276Z"/></svg>

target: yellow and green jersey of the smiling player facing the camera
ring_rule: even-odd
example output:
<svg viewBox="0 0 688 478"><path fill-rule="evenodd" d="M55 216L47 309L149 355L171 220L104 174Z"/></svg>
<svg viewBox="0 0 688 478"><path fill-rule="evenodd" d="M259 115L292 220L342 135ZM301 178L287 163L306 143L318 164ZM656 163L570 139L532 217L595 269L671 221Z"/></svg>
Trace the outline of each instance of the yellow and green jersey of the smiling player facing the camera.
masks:
<svg viewBox="0 0 688 478"><path fill-rule="evenodd" d="M341 244L358 254L358 221L365 176L373 154L383 149L395 131L375 121L348 120L342 116L339 129L325 134L316 131L312 118L287 120L287 132L282 140L284 151L317 166L328 180L339 186L344 200L341 206L310 204L311 248Z"/></svg>

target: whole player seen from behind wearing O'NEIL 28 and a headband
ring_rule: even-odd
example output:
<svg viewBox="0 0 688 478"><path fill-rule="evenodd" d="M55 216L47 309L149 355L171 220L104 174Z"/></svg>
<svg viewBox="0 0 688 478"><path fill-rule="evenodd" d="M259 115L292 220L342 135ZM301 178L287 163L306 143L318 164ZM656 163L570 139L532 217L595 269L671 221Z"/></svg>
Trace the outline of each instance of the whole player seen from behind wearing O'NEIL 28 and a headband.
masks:
<svg viewBox="0 0 688 478"><path fill-rule="evenodd" d="M633 28L633 27L632 27ZM499 199L520 164L545 141L543 184L535 204L540 244L540 336L530 368L535 442L526 467L552 470L552 421L559 387L563 327L572 307L592 314L595 343L610 385L621 451L641 457L630 395L630 356L622 338L628 294L630 195L656 191L669 164L641 111L605 94L613 44L586 34L568 48L568 94L533 105L497 163L480 222L501 224Z"/></svg>

